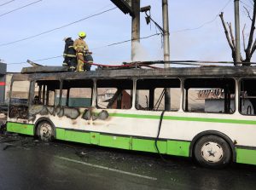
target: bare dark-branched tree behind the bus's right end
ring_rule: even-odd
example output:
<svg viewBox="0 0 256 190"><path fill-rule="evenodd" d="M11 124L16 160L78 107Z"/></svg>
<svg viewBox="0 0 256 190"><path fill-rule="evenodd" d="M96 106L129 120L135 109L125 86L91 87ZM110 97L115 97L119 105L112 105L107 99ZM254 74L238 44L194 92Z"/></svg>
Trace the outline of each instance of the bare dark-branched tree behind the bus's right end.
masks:
<svg viewBox="0 0 256 190"><path fill-rule="evenodd" d="M256 0L252 0L251 1L252 3L252 6L253 6L253 11L249 11L247 9L247 7L243 7L247 13L247 17L249 18L249 20L251 20L251 28L250 28L250 32L249 32L249 37L248 37L248 40L247 40L247 47L246 47L246 38L245 38L245 28L246 28L246 25L244 25L243 27L243 30L242 30L242 39L243 39L243 49L244 49L244 52L245 52L245 59L241 57L241 63L243 63L243 65L246 65L246 66L249 66L250 65L250 62L251 62L251 59L252 59L252 56L253 56L253 53L256 49L256 38L253 37L253 34L254 34L254 31L255 31L255 17L256 17ZM253 12L253 14L252 14ZM222 24L224 26L224 33L225 33L225 36L227 38L227 41L230 45L230 49L231 49L231 52L232 52L232 58L234 60L234 62L236 62L236 43L235 43L235 38L234 38L234 35L233 35L233 30L232 30L232 26L231 26L231 23L225 23L224 21L224 13L221 12L221 14L219 14L219 17L222 21ZM227 26L229 26L229 28L227 28Z"/></svg>

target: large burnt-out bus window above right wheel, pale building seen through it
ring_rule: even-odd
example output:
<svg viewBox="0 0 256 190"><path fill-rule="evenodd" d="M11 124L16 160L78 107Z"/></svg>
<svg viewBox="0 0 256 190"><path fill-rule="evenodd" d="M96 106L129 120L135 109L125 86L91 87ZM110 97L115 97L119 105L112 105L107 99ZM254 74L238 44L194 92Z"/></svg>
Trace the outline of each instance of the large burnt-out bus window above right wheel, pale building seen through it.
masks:
<svg viewBox="0 0 256 190"><path fill-rule="evenodd" d="M235 80L232 78L189 78L184 81L185 112L235 112Z"/></svg>

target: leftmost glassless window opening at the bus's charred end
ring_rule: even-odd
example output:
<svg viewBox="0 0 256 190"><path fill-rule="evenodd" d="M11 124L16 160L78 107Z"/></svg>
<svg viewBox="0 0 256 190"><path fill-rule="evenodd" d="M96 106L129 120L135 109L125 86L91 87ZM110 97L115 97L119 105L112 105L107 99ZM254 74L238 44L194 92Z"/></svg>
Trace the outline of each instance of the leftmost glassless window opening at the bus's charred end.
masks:
<svg viewBox="0 0 256 190"><path fill-rule="evenodd" d="M15 81L11 89L11 104L27 104L29 95L29 81Z"/></svg>

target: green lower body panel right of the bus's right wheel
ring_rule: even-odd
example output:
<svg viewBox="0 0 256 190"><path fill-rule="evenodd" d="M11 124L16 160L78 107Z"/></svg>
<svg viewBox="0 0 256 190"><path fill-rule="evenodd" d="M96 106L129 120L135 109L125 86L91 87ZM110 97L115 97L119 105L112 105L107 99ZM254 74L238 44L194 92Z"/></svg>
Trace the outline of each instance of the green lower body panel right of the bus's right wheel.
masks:
<svg viewBox="0 0 256 190"><path fill-rule="evenodd" d="M236 147L236 162L241 164L256 164L256 150Z"/></svg>

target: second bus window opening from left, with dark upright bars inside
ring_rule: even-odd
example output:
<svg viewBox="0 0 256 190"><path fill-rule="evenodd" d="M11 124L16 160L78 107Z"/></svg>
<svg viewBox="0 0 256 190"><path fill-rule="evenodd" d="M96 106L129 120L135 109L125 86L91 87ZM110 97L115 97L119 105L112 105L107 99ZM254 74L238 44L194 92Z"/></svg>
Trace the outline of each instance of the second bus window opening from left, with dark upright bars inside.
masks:
<svg viewBox="0 0 256 190"><path fill-rule="evenodd" d="M32 99L33 105L56 106L55 97L60 90L60 81L37 81Z"/></svg>

